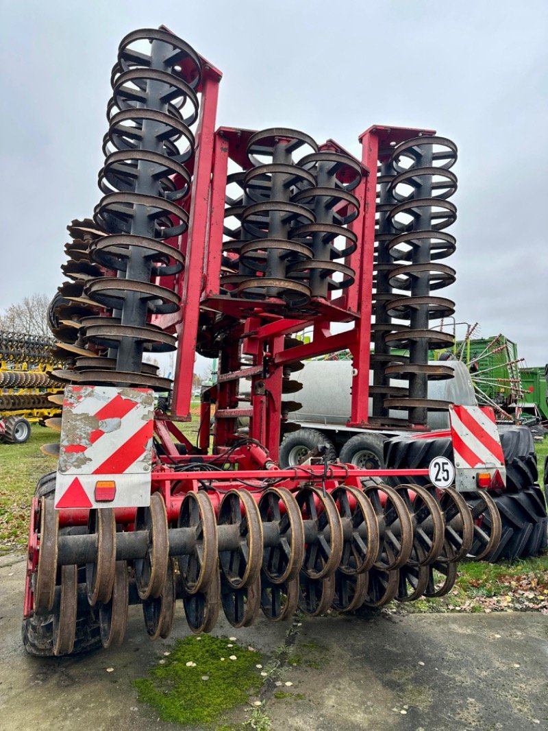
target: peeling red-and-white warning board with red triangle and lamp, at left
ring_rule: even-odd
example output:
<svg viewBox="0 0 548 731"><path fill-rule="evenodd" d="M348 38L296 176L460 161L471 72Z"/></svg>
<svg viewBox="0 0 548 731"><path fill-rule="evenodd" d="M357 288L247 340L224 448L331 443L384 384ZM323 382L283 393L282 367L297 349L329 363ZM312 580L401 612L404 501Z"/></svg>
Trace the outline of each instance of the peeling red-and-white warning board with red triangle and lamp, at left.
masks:
<svg viewBox="0 0 548 731"><path fill-rule="evenodd" d="M153 414L148 389L66 387L56 508L148 505Z"/></svg>

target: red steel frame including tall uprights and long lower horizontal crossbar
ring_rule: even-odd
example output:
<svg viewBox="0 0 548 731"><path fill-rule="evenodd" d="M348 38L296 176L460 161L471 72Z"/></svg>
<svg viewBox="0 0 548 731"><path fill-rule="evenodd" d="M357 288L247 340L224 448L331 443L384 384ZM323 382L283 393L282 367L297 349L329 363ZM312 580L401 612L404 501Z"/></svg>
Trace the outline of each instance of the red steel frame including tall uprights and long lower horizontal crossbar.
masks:
<svg viewBox="0 0 548 731"><path fill-rule="evenodd" d="M250 166L246 146L253 131L221 127L215 131L218 86L222 74L202 58L203 76L197 92L201 94L196 151L191 163L194 175L191 194L183 205L189 212L189 230L172 246L185 254L185 269L169 279L170 286L180 295L180 311L154 318L164 330L177 332L178 349L173 381L172 404L169 415L156 414L155 432L165 454L158 458L152 474L152 489L161 489L166 497L168 515L178 510L184 493L197 490L199 485L224 488L246 485L259 491L264 480L275 479L289 489L303 481L322 485L337 480L359 480L365 476L395 474L427 474L425 470L366 471L351 466L313 465L306 469L280 470L276 464L281 435L283 367L295 360L306 360L343 349L351 351L354 361L351 416L348 424L368 426L370 322L373 289L373 254L375 248L376 170L379 160L391 154L394 145L417 135L433 135L433 130L373 126L364 132L362 144L362 181L354 195L359 200L359 215L350 224L357 234L356 251L347 257L346 265L356 273L354 284L343 290L338 298L313 298L315 314L301 318L283 317L280 300L267 303L232 298L220 290L221 255L224 236L225 195L229 161L243 169ZM184 69L181 71L184 76ZM320 145L321 150L348 154L334 140ZM164 280L167 284L168 278ZM198 320L201 312L216 312L232 318L232 338L221 354L217 385L202 396L197 446L178 429L175 422L190 419L190 401L194 357L197 348ZM351 325L342 333L332 333L332 322ZM284 349L284 338L311 328L310 342ZM251 356L251 366L240 363L242 355ZM251 395L246 409L238 407L242 398L237 393L241 378L251 378ZM216 402L216 429L213 454L210 444L211 401ZM249 439L236 433L236 417L250 420ZM180 455L175 442L186 447ZM184 470L185 463L200 460L218 463L231 469L215 474L211 471ZM173 466L177 465L177 471ZM201 481L201 482L200 482ZM248 482L251 481L251 482ZM85 512L85 511L80 511ZM87 515L87 513L86 513ZM117 520L132 523L133 509L116 511ZM87 520L79 511L61 511L61 525Z"/></svg>

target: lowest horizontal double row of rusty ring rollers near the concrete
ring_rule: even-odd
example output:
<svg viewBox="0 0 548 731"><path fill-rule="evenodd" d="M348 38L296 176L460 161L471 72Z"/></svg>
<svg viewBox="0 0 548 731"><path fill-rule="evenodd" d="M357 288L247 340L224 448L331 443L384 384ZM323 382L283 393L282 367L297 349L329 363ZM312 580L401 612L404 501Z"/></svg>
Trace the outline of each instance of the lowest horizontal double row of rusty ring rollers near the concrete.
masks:
<svg viewBox="0 0 548 731"><path fill-rule="evenodd" d="M482 556L498 545L498 512L486 494L478 501L473 515L452 489L352 477L234 488L219 478L211 490L173 493L168 508L156 492L150 507L91 510L87 526L60 528L53 496L36 497L23 637L32 651L33 625L45 618L55 654L72 652L85 614L79 591L105 647L123 640L130 604L142 604L156 639L169 635L178 599L189 628L208 632L221 610L240 627L261 612L280 621L297 608L316 616L443 596L472 545ZM489 529L474 521L486 513Z"/></svg>

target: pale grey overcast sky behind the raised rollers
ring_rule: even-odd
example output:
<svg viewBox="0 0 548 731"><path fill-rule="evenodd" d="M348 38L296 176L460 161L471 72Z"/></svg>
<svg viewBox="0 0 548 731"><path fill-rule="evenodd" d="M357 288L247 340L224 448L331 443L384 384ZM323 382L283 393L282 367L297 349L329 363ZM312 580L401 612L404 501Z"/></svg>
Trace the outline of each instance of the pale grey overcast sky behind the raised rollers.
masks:
<svg viewBox="0 0 548 731"><path fill-rule="evenodd" d="M219 126L284 125L359 156L371 124L457 143L457 319L548 361L548 3L1 0L0 310L62 276L99 200L121 38L164 23L224 73Z"/></svg>

